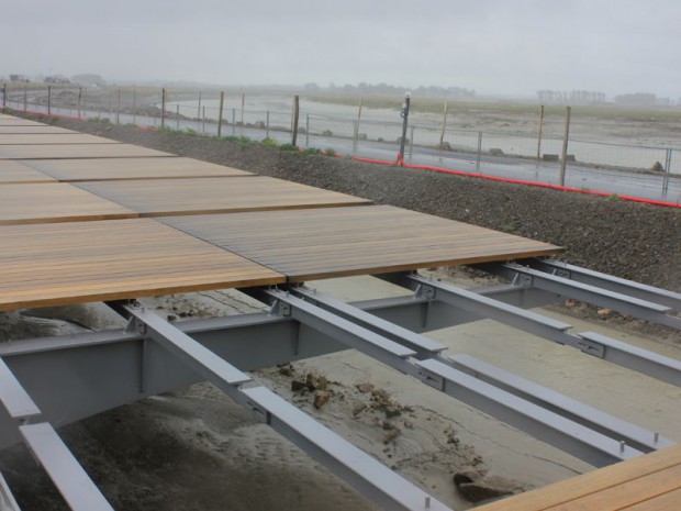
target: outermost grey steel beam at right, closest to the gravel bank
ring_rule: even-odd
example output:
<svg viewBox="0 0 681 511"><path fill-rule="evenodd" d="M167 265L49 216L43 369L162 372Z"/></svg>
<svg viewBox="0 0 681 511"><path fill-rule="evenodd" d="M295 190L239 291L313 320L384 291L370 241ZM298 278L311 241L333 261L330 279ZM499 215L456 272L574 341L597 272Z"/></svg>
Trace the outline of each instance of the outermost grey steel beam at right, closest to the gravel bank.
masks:
<svg viewBox="0 0 681 511"><path fill-rule="evenodd" d="M613 277L612 275L601 274L587 268L580 268L579 266L569 265L555 259L532 258L525 259L522 263L527 264L534 269L556 275L557 277L595 286L622 295L628 295L641 300L667 306L674 311L681 311L681 293L678 292L635 282L634 280Z"/></svg>

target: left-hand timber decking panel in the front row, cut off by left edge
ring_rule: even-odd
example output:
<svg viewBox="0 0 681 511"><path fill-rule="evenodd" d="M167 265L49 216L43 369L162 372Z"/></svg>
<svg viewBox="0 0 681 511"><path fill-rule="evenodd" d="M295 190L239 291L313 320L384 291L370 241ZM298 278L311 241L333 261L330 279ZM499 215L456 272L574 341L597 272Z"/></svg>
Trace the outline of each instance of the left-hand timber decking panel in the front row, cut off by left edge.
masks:
<svg viewBox="0 0 681 511"><path fill-rule="evenodd" d="M282 284L148 219L0 226L0 311Z"/></svg>

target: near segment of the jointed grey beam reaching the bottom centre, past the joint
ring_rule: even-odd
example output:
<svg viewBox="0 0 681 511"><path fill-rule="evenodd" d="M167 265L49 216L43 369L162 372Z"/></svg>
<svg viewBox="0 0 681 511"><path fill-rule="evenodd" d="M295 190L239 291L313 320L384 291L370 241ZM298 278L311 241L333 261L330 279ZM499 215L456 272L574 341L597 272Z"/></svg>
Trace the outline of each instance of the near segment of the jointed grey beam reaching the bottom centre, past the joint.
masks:
<svg viewBox="0 0 681 511"><path fill-rule="evenodd" d="M265 387L243 389L248 404L259 410L279 434L301 447L382 509L449 510L376 458L340 438L297 407Z"/></svg>

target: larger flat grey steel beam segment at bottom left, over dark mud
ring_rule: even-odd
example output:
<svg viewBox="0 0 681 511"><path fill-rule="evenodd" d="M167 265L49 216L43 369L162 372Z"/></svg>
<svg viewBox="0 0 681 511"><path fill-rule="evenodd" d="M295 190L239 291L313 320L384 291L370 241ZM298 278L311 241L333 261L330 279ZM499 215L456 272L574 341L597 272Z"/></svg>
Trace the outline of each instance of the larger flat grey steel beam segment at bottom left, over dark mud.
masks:
<svg viewBox="0 0 681 511"><path fill-rule="evenodd" d="M45 423L19 426L35 459L45 468L74 511L113 511L54 429Z"/></svg>

